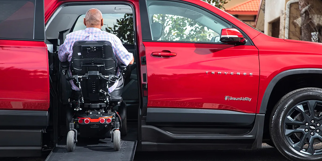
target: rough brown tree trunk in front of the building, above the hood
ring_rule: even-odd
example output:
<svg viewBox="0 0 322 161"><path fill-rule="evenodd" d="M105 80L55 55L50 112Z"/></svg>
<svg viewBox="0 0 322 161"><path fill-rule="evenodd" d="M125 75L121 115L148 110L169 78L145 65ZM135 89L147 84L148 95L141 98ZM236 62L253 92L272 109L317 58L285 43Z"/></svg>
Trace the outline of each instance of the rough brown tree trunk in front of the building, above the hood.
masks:
<svg viewBox="0 0 322 161"><path fill-rule="evenodd" d="M310 12L308 8L309 0L299 0L298 2L301 16L301 40L302 41L312 41L312 31Z"/></svg>

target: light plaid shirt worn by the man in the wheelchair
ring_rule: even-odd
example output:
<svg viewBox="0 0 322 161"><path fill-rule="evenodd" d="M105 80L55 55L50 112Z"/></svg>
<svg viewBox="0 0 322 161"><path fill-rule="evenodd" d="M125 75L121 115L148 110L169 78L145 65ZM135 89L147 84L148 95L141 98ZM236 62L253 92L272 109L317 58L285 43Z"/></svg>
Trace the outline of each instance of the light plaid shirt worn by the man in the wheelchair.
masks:
<svg viewBox="0 0 322 161"><path fill-rule="evenodd" d="M133 54L126 50L121 40L116 35L112 33L108 33L106 31L102 31L99 28L89 27L89 28L86 28L85 30L75 31L66 35L66 39L64 43L59 47L59 50L58 50L58 58L61 62L65 62L66 60L71 62L71 56L73 53L73 49L72 49L73 44L79 40L109 41L112 44L114 54L118 61L122 62L125 65L128 65L133 59ZM71 69L69 69L68 72L71 74ZM119 76L119 74L120 74L120 69L118 69L117 71L117 76ZM70 82L71 82L71 88L73 90L80 90L72 80ZM113 90L115 90L117 85L118 85L118 81L116 81L114 85L109 88L108 92L110 93Z"/></svg>

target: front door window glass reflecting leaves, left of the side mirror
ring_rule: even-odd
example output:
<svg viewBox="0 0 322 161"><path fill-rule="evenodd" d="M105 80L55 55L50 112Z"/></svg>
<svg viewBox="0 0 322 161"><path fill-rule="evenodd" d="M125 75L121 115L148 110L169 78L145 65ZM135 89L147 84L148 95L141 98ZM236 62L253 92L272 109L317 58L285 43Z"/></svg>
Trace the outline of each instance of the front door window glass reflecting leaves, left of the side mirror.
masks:
<svg viewBox="0 0 322 161"><path fill-rule="evenodd" d="M157 41L183 42L220 42L219 35L223 28L232 28L221 19L204 10L179 2L147 0L151 34L158 33L157 25L161 24L161 35L152 36ZM158 34L157 34L158 35Z"/></svg>

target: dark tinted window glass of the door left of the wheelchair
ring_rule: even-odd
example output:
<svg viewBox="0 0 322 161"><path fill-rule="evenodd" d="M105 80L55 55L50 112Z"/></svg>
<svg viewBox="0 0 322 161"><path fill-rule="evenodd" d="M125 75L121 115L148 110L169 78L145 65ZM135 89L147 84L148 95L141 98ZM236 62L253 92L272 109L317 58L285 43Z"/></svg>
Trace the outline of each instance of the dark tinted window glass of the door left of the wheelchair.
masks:
<svg viewBox="0 0 322 161"><path fill-rule="evenodd" d="M33 39L35 0L0 1L0 38Z"/></svg>

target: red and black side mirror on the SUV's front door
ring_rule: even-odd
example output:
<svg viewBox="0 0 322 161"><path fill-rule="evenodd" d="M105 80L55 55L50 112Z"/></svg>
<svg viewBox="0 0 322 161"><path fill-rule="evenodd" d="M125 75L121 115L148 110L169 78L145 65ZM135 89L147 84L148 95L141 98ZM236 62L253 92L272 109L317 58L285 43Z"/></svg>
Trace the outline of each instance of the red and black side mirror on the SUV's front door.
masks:
<svg viewBox="0 0 322 161"><path fill-rule="evenodd" d="M222 29L220 34L220 41L222 43L228 44L245 44L246 38L239 32L237 29L234 28L226 28Z"/></svg>

